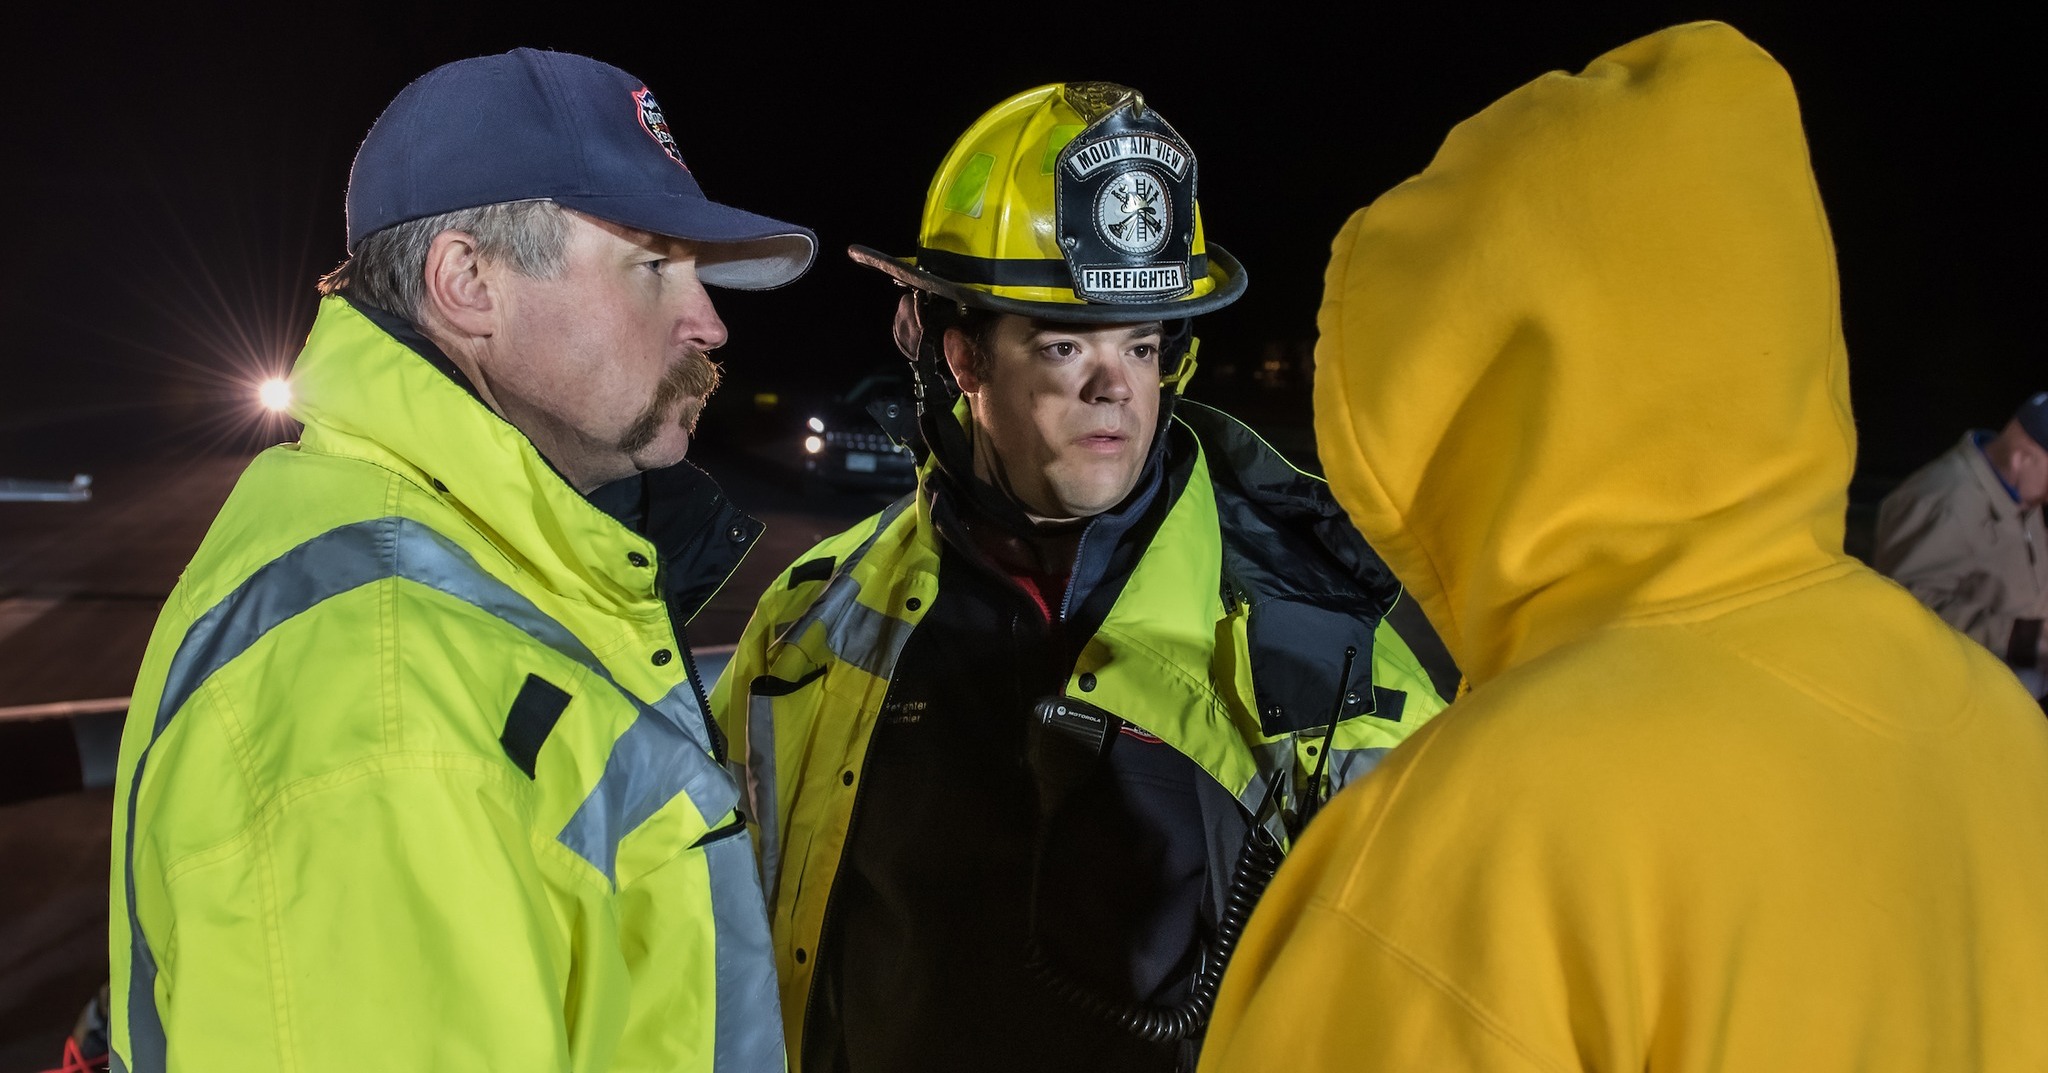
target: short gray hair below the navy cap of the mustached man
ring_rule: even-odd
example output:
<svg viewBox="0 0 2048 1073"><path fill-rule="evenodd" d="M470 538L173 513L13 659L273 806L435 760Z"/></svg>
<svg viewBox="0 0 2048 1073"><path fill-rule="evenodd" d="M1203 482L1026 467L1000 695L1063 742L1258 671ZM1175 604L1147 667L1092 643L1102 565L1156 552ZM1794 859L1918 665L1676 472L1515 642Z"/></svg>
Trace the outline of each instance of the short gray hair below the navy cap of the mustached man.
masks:
<svg viewBox="0 0 2048 1073"><path fill-rule="evenodd" d="M477 240L477 256L504 258L514 272L553 278L561 272L569 225L553 201L504 201L408 219L367 235L356 256L319 276L322 295L348 295L414 324L426 307L426 252L434 235L463 231Z"/></svg>

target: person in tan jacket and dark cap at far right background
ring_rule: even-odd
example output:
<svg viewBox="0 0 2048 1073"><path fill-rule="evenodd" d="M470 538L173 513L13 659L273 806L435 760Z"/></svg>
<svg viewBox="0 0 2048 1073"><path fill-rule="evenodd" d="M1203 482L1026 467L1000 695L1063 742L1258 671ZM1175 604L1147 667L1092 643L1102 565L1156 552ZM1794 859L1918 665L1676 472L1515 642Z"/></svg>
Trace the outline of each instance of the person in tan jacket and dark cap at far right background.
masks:
<svg viewBox="0 0 2048 1073"><path fill-rule="evenodd" d="M1878 504L1872 565L2048 694L2048 391L1970 430Z"/></svg>

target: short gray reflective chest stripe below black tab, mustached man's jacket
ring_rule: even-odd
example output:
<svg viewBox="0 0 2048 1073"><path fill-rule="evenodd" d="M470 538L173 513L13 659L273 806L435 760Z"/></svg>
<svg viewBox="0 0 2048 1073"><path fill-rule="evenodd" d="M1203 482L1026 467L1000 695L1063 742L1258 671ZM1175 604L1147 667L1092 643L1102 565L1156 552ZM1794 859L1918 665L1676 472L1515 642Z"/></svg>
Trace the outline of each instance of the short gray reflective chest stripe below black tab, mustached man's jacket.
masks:
<svg viewBox="0 0 2048 1073"><path fill-rule="evenodd" d="M559 842L588 860L604 878L618 883L618 842L647 821L678 792L702 813L705 823L717 823L739 805L739 786L725 768L711 760L702 741L684 731L694 713L702 729L702 709L696 706L696 686L688 680L668 692L655 706L641 704L639 719L612 743L604 760L604 776L590 797L575 807ZM666 715L676 713L676 715Z"/></svg>

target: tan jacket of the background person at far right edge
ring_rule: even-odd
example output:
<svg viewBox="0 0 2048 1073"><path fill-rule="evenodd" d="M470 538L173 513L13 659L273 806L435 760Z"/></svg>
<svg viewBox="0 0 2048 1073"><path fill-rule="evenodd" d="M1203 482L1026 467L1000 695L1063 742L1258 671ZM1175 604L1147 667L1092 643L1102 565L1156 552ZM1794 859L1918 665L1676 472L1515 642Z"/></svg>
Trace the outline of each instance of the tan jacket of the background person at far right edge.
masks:
<svg viewBox="0 0 2048 1073"><path fill-rule="evenodd" d="M1878 506L1872 565L2011 668L2034 670L2048 614L2040 528L2040 510L2019 510L1964 434Z"/></svg>

